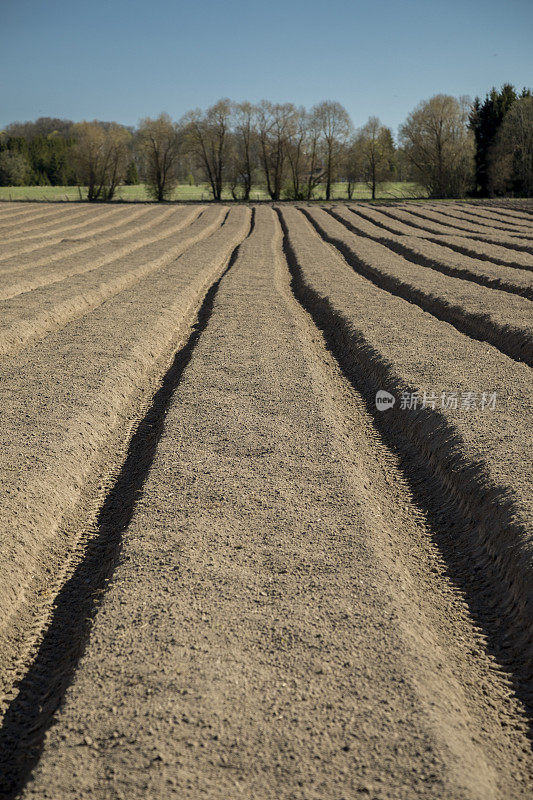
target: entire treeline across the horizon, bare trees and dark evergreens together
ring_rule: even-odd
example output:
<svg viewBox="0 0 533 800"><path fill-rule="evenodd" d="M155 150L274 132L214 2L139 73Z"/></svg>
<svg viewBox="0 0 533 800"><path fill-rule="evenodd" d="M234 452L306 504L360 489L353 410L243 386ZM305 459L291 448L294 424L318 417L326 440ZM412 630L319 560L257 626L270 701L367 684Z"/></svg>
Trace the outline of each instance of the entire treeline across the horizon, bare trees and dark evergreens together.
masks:
<svg viewBox="0 0 533 800"><path fill-rule="evenodd" d="M377 117L355 130L340 103L307 111L292 103L224 99L174 122L167 114L136 129L115 122L41 118L0 133L0 185L79 185L110 200L142 182L167 200L178 182L206 182L214 200L254 187L272 200L332 197L342 181L353 197L366 183L409 180L431 197L533 193L533 97L510 86L473 103L436 95L400 126L397 140Z"/></svg>

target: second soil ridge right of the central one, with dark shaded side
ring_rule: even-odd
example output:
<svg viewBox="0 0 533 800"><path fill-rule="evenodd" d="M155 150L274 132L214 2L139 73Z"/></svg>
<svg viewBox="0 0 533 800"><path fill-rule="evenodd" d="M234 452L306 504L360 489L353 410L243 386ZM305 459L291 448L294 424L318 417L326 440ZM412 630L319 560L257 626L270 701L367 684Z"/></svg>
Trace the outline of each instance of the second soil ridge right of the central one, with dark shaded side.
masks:
<svg viewBox="0 0 533 800"><path fill-rule="evenodd" d="M491 344L516 361L533 365L531 306L525 298L510 295L502 305L501 298L495 298L484 286L471 285L461 278L441 277L437 271L421 276L416 265L397 257L384 245L367 243L351 235L326 212L301 210L318 234L376 286L415 303L461 333Z"/></svg>

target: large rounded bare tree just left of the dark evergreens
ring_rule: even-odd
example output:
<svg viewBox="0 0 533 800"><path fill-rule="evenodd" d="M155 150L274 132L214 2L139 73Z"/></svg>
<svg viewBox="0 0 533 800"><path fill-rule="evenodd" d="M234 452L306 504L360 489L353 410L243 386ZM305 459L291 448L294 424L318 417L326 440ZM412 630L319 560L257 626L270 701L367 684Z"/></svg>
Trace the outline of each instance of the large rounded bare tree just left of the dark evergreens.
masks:
<svg viewBox="0 0 533 800"><path fill-rule="evenodd" d="M471 186L474 139L465 99L438 94L420 103L400 127L414 173L431 197L461 197Z"/></svg>

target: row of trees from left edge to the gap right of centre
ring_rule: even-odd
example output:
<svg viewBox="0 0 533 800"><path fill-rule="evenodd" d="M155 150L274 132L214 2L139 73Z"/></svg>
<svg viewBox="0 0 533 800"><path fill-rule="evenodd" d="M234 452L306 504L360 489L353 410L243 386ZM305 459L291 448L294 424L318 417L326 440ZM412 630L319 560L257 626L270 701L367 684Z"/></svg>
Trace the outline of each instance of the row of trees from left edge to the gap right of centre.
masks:
<svg viewBox="0 0 533 800"><path fill-rule="evenodd" d="M8 126L0 137L0 183L78 183L87 186L89 200L109 200L118 185L140 176L157 200L168 199L179 180L206 181L214 200L226 187L248 200L259 185L273 200L310 199L319 186L329 199L345 175L350 196L361 180L375 196L395 172L390 129L372 118L354 131L346 110L329 101L306 111L292 103L225 99L179 123L167 114L143 119L136 130L98 121L63 123L59 130L56 122ZM61 170L52 159L45 165L34 157L59 141Z"/></svg>

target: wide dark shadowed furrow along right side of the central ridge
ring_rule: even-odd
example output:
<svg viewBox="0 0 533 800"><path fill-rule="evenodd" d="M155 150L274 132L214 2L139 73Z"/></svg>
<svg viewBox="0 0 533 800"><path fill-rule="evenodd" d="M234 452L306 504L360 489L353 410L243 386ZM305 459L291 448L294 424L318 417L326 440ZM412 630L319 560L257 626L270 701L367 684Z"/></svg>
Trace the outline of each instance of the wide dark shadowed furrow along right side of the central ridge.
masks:
<svg viewBox="0 0 533 800"><path fill-rule="evenodd" d="M276 209L283 230L283 250L291 290L322 332L326 347L345 378L365 402L381 440L399 461L413 500L424 513L448 576L468 603L486 637L486 646L522 702L533 738L533 634L531 568L527 552L511 548L525 541L516 522L512 498L504 487L488 482L484 465L461 456L459 435L431 409L416 415L390 409L378 413L376 391L399 396L405 386L392 365L304 280L292 248L287 224Z"/></svg>

